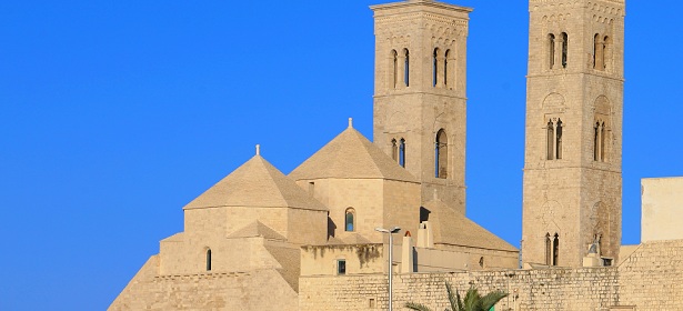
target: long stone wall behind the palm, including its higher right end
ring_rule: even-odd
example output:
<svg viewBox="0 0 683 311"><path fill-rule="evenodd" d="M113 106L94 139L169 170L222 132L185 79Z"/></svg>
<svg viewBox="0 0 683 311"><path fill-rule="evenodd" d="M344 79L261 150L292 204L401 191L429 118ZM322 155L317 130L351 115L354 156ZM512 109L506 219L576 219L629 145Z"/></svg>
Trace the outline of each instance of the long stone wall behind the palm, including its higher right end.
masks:
<svg viewBox="0 0 683 311"><path fill-rule="evenodd" d="M458 271L396 274L394 308L408 301L446 307L444 282L464 291L503 290L495 310L681 310L683 240L641 244L619 267ZM386 309L385 275L307 277L299 283L300 310ZM374 305L374 307L371 307Z"/></svg>

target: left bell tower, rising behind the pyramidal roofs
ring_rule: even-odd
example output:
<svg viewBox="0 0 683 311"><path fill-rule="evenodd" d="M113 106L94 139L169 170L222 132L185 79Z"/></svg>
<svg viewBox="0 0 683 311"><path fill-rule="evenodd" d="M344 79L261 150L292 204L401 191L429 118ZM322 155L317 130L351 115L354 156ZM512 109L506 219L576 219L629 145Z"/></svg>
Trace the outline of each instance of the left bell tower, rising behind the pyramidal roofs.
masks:
<svg viewBox="0 0 683 311"><path fill-rule="evenodd" d="M434 199L465 209L465 64L472 9L431 0L373 6L374 143Z"/></svg>

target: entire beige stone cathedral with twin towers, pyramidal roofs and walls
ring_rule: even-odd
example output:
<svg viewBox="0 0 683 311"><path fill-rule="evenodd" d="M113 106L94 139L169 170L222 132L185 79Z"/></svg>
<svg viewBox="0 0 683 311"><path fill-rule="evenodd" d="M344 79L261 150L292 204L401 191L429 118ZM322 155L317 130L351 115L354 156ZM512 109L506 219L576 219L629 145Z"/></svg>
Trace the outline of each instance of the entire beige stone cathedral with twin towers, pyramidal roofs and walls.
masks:
<svg viewBox="0 0 683 311"><path fill-rule="evenodd" d="M446 281L495 310L683 310L683 178L642 181L621 244L625 0L529 0L521 251L465 217L472 9L371 9L373 141L349 119L289 174L257 146L109 310L386 310L389 273L396 310L445 308Z"/></svg>

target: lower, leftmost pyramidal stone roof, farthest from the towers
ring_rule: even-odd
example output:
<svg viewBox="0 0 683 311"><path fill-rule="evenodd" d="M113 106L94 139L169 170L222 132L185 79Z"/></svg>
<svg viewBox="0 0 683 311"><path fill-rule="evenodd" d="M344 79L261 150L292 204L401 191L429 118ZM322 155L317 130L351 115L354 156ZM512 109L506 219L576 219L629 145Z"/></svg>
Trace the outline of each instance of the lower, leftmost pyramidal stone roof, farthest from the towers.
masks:
<svg viewBox="0 0 683 311"><path fill-rule="evenodd" d="M295 208L328 211L294 181L258 154L183 209L219 207Z"/></svg>

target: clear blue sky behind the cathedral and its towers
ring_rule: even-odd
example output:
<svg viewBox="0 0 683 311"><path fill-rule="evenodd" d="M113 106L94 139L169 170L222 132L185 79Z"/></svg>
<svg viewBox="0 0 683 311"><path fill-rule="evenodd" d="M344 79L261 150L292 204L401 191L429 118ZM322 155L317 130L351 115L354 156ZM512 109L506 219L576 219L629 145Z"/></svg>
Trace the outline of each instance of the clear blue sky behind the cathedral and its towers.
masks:
<svg viewBox="0 0 683 311"><path fill-rule="evenodd" d="M0 2L0 310L103 310L254 144L289 173L349 117L371 138L380 2ZM456 3L468 215L519 245L528 2ZM624 243L640 179L683 174L682 9L626 10Z"/></svg>

